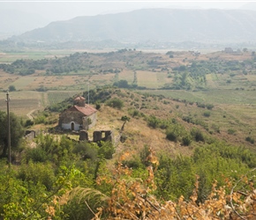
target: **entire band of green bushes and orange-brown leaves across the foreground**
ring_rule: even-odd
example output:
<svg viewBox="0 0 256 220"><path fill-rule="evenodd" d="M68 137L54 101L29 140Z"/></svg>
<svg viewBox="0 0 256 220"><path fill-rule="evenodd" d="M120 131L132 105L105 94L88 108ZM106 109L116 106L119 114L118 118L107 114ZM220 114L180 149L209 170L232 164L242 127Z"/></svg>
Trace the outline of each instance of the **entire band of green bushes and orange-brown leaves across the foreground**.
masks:
<svg viewBox="0 0 256 220"><path fill-rule="evenodd" d="M169 158L145 146L139 155L38 136L21 165L2 160L3 219L189 219L255 213L255 154L225 143L206 144L191 158ZM247 174L245 174L247 173Z"/></svg>

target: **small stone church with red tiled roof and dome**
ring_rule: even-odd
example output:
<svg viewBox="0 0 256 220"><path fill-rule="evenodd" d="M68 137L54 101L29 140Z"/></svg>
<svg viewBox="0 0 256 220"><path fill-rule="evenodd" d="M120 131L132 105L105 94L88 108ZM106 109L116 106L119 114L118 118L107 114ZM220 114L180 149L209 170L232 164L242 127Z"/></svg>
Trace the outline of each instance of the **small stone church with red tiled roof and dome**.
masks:
<svg viewBox="0 0 256 220"><path fill-rule="evenodd" d="M58 125L64 130L82 130L94 127L97 110L85 103L86 99L79 96L74 105L59 115Z"/></svg>

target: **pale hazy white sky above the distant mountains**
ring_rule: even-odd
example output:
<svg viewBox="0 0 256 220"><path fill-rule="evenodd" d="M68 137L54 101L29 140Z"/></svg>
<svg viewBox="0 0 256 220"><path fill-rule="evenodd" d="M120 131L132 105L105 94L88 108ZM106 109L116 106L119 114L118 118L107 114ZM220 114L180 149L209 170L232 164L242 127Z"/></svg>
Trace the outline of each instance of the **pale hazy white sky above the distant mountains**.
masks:
<svg viewBox="0 0 256 220"><path fill-rule="evenodd" d="M256 0L255 0L256 1ZM49 21L77 16L132 11L140 8L200 8L237 9L250 1L47 1L0 0L1 10L36 13ZM252 2L252 1L251 1ZM254 2L254 1L253 1Z"/></svg>

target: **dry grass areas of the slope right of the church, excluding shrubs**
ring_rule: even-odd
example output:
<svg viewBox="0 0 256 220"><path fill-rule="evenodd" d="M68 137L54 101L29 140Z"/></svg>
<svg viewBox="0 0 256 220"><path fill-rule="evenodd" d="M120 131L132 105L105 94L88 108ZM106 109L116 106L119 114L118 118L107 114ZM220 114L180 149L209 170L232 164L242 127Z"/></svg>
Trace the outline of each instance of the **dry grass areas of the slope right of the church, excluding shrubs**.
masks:
<svg viewBox="0 0 256 220"><path fill-rule="evenodd" d="M121 96L119 90L119 99L124 100L124 108L122 110L117 110L109 106L102 105L102 108L98 112L98 121L94 129L105 129L109 128L114 130L117 135L120 128L122 127L124 121L121 121L121 117L128 114L128 109L131 108L131 103L135 101L140 107L142 105L147 108L140 108L139 112L145 115L155 115L157 118L162 120L171 120L173 118L184 125L187 130L191 128L200 128L204 134L210 138L216 138L221 141L225 141L232 145L243 145L255 150L253 144L245 141L245 136L249 135L249 132L253 133L255 128L253 126L253 119L256 114L233 114L232 107L230 109L223 109L223 106L215 106L213 110L210 111L210 117L203 116L203 113L208 111L207 109L199 108L195 104L189 105L182 102L177 102L171 99L161 99L159 97L145 97L144 95L121 91ZM134 98L131 99L132 94ZM112 97L118 97L117 94L113 94ZM145 104L143 104L145 103ZM165 104L164 104L165 103ZM157 109L155 109L157 106ZM177 107L178 106L178 107ZM247 110L249 111L249 110ZM204 121L207 124L208 131L200 125L192 125L181 119L182 116L191 114L193 117ZM225 118L223 118L225 115ZM245 116L246 115L246 116ZM251 122L250 122L251 121ZM216 128L220 129L220 133L216 131ZM235 134L229 134L228 129L233 128ZM212 134L210 134L211 132ZM181 153L183 155L190 155L192 153L193 147L200 145L201 143L192 143L191 146L182 146L180 143L169 142L165 138L165 130L161 128L149 128L147 126L147 121L143 117L131 117L131 121L127 122L124 126L124 135L127 136L125 143L120 143L117 149L118 152L123 152L127 150L138 153L139 149L142 149L145 144L152 147L154 150L164 150L170 156L177 155Z"/></svg>

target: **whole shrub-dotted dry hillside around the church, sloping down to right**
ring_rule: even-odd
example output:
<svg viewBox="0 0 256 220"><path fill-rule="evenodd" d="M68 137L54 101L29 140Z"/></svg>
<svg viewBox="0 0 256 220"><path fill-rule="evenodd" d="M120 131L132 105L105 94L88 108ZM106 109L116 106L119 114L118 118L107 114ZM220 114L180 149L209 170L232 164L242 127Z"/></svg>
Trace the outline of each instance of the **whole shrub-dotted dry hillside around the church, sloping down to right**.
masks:
<svg viewBox="0 0 256 220"><path fill-rule="evenodd" d="M86 98L87 95L87 92L82 94ZM111 99L123 102L122 109L109 106ZM125 142L118 144L117 157L125 150L132 150L136 154L145 145L157 152L164 152L169 157L179 154L190 156L195 147L215 142L244 146L256 151L256 130L253 124L256 115L252 113L253 106L213 104L211 100L196 103L165 98L162 95L154 95L153 92L132 92L115 88L91 90L90 103L94 107L95 103L100 103L101 106L97 123L89 130L90 139L94 130L105 129L112 130L117 138L124 124L122 117L130 118L124 126ZM64 100L62 104L49 105L45 109L45 115L50 115L49 118L39 122L41 126L37 124L33 128L52 130L57 124L58 114L71 105L72 98ZM48 110L51 113L48 113ZM36 118L41 118L41 115L44 114L34 114L35 121ZM170 131L175 138L167 137ZM201 136L199 140L193 137L193 132ZM186 137L190 139L188 143L185 141Z"/></svg>

